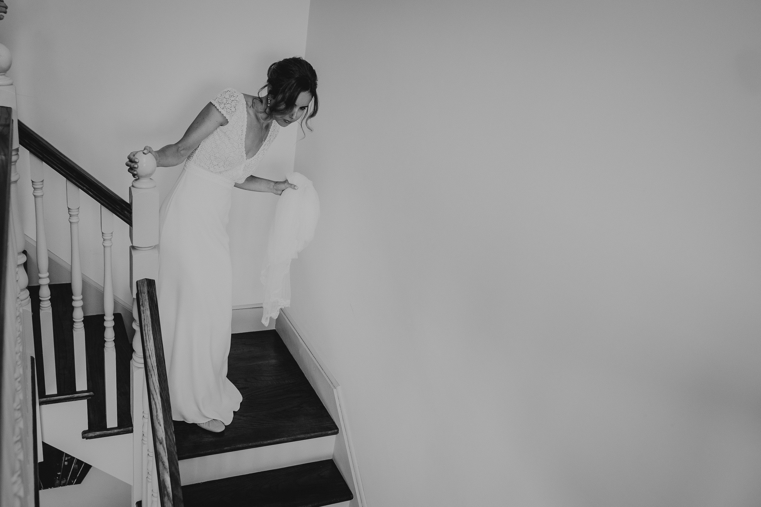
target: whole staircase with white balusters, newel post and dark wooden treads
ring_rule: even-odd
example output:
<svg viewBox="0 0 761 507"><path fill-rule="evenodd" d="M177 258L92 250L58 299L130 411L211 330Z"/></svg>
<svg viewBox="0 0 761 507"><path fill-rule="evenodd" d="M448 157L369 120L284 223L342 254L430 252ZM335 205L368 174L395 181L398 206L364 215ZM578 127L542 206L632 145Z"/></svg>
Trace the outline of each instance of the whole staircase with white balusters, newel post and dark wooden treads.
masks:
<svg viewBox="0 0 761 507"><path fill-rule="evenodd" d="M0 80L0 99L11 93L14 97L11 85ZM11 223L15 234L8 245L18 248L17 348L21 356L33 356L31 363L36 364L36 369L28 370L34 371L35 378L30 378L26 388L29 393L37 390L37 411L32 411L31 417L37 417L40 426L29 455L39 452L43 461L41 442L45 442L64 455L97 467L132 485L129 505L365 505L339 385L320 366L284 312L276 330L252 329L232 335L228 378L244 399L224 432L211 433L180 421L168 428L156 426L154 414L149 414L146 390L146 369L151 366L155 370L155 365L149 364L150 354L143 355L145 329L138 322L137 299L133 299L132 315L127 318L113 312L110 264L116 217L131 227L129 281L133 298L137 296L136 281L155 278L158 271L158 189L151 179L151 168L139 170L140 178L132 183L127 203L26 125L17 124L14 101L9 107L14 110L16 139L29 151L25 160L30 164L37 223L35 265L39 272L27 277L20 219L24 207L18 204L16 185L17 144L11 164L14 176L9 177L11 214L6 214L11 221L6 225ZM48 273L43 179L53 174L51 170L66 180L72 282L65 284L51 284ZM100 204L104 313L99 315L83 312L78 215L80 198L87 197L80 196L81 192ZM28 285L29 279L39 284ZM129 338L127 326L135 329L136 339ZM159 494L164 487L159 487L164 480L164 458L154 449L154 433L164 429L174 434L180 481L177 488L181 487L184 504L179 496L167 503ZM31 436L24 442L31 442ZM157 445L165 443L159 440Z"/></svg>

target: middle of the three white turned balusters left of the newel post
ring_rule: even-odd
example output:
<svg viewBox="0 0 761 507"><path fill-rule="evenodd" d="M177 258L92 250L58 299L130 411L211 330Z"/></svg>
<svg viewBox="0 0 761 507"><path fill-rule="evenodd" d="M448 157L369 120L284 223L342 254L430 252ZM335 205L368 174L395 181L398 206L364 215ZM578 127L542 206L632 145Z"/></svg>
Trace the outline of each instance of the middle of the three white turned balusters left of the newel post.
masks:
<svg viewBox="0 0 761 507"><path fill-rule="evenodd" d="M84 349L84 314L82 313L82 266L79 261L79 189L66 182L68 223L72 230L72 318L74 320L74 371L77 391L88 388L86 352Z"/></svg>

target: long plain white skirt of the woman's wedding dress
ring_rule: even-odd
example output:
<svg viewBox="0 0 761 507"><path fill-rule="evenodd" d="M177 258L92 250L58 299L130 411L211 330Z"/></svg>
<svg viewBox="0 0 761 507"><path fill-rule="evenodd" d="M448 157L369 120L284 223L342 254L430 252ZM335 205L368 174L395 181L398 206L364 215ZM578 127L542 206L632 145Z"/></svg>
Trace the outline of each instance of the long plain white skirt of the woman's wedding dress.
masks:
<svg viewBox="0 0 761 507"><path fill-rule="evenodd" d="M174 420L227 425L243 399L227 378L233 185L188 162L161 204L158 311Z"/></svg>

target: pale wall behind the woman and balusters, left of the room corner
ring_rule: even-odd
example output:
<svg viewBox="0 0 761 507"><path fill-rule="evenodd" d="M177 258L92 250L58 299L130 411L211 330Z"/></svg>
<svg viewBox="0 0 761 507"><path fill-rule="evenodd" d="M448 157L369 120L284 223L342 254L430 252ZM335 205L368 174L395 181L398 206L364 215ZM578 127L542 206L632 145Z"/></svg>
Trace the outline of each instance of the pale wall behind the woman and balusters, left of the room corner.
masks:
<svg viewBox="0 0 761 507"><path fill-rule="evenodd" d="M38 0L14 2L9 9L0 43L13 55L8 74L17 87L19 117L127 199L131 177L124 163L130 151L177 141L224 87L256 93L270 63L304 54L309 0ZM282 131L257 174L282 179L290 172L296 135L296 127ZM156 179L163 196L180 168L160 171ZM24 229L34 237L27 174L21 182ZM68 261L64 180L48 168L46 186L48 246ZM234 304L260 303L262 236L276 197L234 193ZM103 280L99 208L87 196L82 201L83 271ZM127 302L128 234L118 221L114 284Z"/></svg>

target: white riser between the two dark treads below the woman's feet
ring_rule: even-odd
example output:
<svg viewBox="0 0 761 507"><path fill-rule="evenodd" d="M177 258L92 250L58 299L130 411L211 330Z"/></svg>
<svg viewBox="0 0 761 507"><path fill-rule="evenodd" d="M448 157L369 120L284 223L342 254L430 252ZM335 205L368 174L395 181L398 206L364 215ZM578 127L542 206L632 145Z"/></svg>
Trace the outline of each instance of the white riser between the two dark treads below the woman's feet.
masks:
<svg viewBox="0 0 761 507"><path fill-rule="evenodd" d="M180 480L184 486L330 459L335 444L336 436L333 435L183 459L180 461Z"/></svg>

